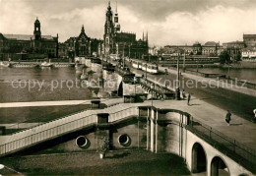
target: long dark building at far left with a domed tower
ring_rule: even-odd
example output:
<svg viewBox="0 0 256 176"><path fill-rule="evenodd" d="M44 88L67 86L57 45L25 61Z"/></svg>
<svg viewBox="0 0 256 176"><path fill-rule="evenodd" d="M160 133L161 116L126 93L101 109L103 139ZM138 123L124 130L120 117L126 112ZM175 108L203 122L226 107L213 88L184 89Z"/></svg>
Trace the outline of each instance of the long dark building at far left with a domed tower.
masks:
<svg viewBox="0 0 256 176"><path fill-rule="evenodd" d="M41 35L40 22L36 18L33 34L0 33L0 59L35 59L58 57L57 36Z"/></svg>

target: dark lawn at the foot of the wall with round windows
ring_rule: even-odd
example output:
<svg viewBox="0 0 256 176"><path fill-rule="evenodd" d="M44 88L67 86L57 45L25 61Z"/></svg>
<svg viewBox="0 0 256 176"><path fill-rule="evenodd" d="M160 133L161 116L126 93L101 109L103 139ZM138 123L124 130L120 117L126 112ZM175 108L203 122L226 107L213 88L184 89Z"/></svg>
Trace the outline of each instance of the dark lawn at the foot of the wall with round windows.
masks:
<svg viewBox="0 0 256 176"><path fill-rule="evenodd" d="M190 175L183 158L147 150L111 151L104 159L96 152L80 152L9 157L1 162L25 175Z"/></svg>

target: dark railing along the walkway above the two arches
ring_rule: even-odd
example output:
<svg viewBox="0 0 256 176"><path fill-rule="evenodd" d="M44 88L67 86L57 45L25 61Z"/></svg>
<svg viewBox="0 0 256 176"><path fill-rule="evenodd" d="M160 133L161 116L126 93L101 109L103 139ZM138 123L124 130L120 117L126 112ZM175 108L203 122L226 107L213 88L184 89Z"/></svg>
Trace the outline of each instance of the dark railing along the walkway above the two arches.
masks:
<svg viewBox="0 0 256 176"><path fill-rule="evenodd" d="M231 139L212 127L191 118L187 129L218 148L245 168L256 171L256 150Z"/></svg>

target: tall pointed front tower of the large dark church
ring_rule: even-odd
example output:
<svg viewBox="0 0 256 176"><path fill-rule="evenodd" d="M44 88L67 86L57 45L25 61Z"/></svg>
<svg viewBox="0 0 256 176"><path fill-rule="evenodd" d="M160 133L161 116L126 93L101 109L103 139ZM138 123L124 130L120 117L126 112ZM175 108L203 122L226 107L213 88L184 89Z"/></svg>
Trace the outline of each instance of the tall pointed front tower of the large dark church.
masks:
<svg viewBox="0 0 256 176"><path fill-rule="evenodd" d="M113 14L111 11L110 1L108 2L108 7L105 13L105 26L104 26L104 53L110 54L113 48Z"/></svg>

